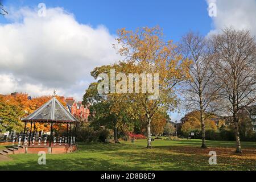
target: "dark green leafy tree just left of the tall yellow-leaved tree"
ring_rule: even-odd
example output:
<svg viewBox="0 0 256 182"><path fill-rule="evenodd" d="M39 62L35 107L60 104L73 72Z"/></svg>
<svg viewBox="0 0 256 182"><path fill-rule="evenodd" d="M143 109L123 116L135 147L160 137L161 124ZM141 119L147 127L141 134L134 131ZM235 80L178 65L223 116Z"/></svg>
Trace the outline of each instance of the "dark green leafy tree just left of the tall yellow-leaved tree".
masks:
<svg viewBox="0 0 256 182"><path fill-rule="evenodd" d="M122 67L118 64L105 65L97 67L91 72L91 75L97 79L101 73L110 75L110 69L114 68L119 71ZM133 109L133 103L127 100L126 95L115 93L99 93L99 83L104 78L99 78L98 82L90 84L84 94L83 104L90 104L90 117L94 127L105 126L114 131L114 142L118 141L118 130L129 128L133 122L136 111Z"/></svg>

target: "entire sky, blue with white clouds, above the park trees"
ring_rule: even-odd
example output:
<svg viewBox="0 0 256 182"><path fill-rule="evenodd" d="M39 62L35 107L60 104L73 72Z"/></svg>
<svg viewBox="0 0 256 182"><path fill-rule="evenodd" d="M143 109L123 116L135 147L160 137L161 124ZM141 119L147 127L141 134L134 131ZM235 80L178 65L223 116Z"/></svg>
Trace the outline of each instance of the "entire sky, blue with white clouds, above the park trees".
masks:
<svg viewBox="0 0 256 182"><path fill-rule="evenodd" d="M35 97L52 94L54 89L81 100L94 81L92 69L119 59L112 44L123 27L159 25L166 40L174 42L188 31L208 35L227 26L248 28L256 36L256 0L0 2L10 13L0 16L0 94L26 92ZM211 2L217 6L215 18L208 15ZM44 18L38 16L39 3L46 4ZM183 114L171 117L179 120Z"/></svg>

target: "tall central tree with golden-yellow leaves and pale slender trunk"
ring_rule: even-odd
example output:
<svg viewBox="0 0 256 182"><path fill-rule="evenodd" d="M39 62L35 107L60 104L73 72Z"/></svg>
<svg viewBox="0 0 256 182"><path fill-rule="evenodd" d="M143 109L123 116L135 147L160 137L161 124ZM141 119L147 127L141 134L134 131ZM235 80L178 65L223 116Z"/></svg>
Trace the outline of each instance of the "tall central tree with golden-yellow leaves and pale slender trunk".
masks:
<svg viewBox="0 0 256 182"><path fill-rule="evenodd" d="M127 97L137 104L137 109L146 119L147 148L151 148L152 117L159 109L173 110L176 107L175 89L181 81L188 77L187 66L185 66L188 61L182 60L171 40L164 41L163 31L158 26L138 28L135 32L122 28L118 31L117 41L118 52L125 57L121 62L127 63L125 73L141 76L140 79L137 79L141 80L139 89L141 92L134 93L132 87L129 89ZM154 89L159 92L152 97L152 93L142 92L142 90L146 88L143 87L143 84L147 80L151 80L146 75L154 73L156 73Z"/></svg>

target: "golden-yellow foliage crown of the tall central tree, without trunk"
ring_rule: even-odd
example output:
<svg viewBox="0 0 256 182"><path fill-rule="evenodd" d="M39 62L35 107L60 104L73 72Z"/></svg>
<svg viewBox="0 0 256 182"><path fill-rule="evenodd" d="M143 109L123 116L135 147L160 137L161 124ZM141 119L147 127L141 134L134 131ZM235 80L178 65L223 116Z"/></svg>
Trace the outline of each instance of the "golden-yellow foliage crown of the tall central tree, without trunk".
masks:
<svg viewBox="0 0 256 182"><path fill-rule="evenodd" d="M154 115L159 107L171 110L170 107L177 105L175 85L189 76L188 60L183 60L183 57L177 53L172 40L167 42L164 40L163 30L159 26L137 28L135 31L122 28L117 33L118 46L116 48L125 59L119 61L118 65L94 69L92 76L97 78L98 73L105 73L106 69L110 68L114 68L116 73L126 75L129 73L158 74L160 96L158 100L148 100L149 93L108 94L108 101L112 102L110 112L118 115L125 110L134 115L132 113L135 107L141 115L145 115L145 112ZM142 88L142 80L139 82Z"/></svg>

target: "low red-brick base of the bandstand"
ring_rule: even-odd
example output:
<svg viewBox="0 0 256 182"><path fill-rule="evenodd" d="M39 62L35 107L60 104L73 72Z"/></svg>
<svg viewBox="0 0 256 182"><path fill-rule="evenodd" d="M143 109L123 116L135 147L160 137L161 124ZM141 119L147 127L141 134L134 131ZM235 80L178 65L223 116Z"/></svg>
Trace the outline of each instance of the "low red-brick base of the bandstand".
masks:
<svg viewBox="0 0 256 182"><path fill-rule="evenodd" d="M19 147L19 150L15 150L14 154L38 154L39 152L46 152L46 154L66 154L70 152L77 151L77 145L71 146L51 146L51 147L44 147L44 146L22 146Z"/></svg>

